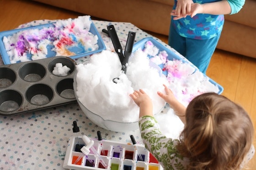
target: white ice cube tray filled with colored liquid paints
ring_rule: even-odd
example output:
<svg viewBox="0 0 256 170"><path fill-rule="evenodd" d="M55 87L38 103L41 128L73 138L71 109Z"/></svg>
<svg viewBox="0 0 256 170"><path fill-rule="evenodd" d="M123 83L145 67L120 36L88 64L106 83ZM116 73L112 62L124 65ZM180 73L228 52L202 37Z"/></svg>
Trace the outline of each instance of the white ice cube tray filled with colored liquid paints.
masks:
<svg viewBox="0 0 256 170"><path fill-rule="evenodd" d="M91 139L91 138L90 138ZM136 144L143 160L139 159L138 150L132 144L125 144L111 140L91 139L94 141L94 147L107 167L104 168L98 157L90 149L90 153L83 155L78 163L75 160L82 154L76 147L76 141L80 146L85 145L81 136L71 136L64 159L63 167L70 170L163 170L153 155L145 149L144 145ZM103 151L104 150L104 153ZM92 163L93 164L92 164Z"/></svg>

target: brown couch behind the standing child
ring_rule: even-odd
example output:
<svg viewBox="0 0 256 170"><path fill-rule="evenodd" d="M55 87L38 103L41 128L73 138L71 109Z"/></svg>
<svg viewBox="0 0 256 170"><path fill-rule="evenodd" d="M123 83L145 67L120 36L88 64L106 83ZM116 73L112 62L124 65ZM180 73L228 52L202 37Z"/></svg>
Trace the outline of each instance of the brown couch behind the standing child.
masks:
<svg viewBox="0 0 256 170"><path fill-rule="evenodd" d="M107 21L131 22L168 35L174 0L35 0ZM225 15L217 48L256 58L256 0L245 0L238 14Z"/></svg>

